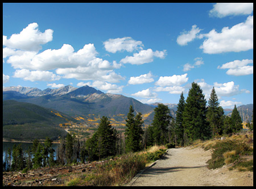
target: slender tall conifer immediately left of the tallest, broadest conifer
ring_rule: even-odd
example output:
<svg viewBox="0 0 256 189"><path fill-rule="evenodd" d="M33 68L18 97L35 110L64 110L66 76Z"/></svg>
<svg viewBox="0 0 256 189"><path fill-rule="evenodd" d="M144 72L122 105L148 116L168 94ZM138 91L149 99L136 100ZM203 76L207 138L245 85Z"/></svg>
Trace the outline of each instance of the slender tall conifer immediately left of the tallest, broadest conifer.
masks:
<svg viewBox="0 0 256 189"><path fill-rule="evenodd" d="M176 121L175 121L175 133L176 141L180 146L184 145L184 127L183 127L183 111L185 107L185 98L183 92L180 95L179 103L177 104Z"/></svg>

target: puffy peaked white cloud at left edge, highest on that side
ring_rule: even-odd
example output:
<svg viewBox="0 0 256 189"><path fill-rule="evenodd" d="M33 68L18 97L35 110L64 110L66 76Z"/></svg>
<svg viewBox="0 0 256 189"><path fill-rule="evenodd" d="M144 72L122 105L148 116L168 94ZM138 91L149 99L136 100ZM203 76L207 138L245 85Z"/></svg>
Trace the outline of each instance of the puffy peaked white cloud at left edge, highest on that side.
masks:
<svg viewBox="0 0 256 189"><path fill-rule="evenodd" d="M23 51L38 52L42 44L52 41L53 30L46 30L44 33L38 30L37 23L28 24L19 34L11 35L10 39L3 35L3 46Z"/></svg>

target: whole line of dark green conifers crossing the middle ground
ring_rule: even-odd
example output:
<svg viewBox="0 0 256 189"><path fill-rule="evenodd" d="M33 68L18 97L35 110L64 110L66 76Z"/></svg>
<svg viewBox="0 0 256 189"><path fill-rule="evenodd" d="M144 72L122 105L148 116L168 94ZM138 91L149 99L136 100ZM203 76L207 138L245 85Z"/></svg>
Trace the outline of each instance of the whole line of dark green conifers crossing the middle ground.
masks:
<svg viewBox="0 0 256 189"><path fill-rule="evenodd" d="M13 150L8 149L6 153L3 170L26 171L38 167L95 161L138 152L155 144L166 145L167 148L185 146L198 139L232 135L242 129L242 119L236 105L232 116L225 116L214 87L207 104L203 90L195 82L192 83L186 100L181 93L175 119L170 115L168 106L159 103L154 108L152 124L143 131L142 114L138 112L135 115L134 112L134 107L130 106L123 134L112 127L106 116L102 116L97 131L86 141L80 141L75 135L68 133L60 139L56 157L49 137L44 144L34 140L32 147L26 152L23 152L21 145L14 145ZM253 129L253 120L247 126Z"/></svg>

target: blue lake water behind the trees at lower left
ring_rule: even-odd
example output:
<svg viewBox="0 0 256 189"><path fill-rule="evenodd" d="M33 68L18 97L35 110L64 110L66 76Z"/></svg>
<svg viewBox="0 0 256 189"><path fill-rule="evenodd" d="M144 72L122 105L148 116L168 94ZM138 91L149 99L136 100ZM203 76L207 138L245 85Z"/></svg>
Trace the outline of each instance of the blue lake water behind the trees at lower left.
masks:
<svg viewBox="0 0 256 189"><path fill-rule="evenodd" d="M5 162L5 154L7 153L8 148L10 148L13 151L13 146L14 144L18 146L21 144L23 152L28 150L30 146L32 146L32 142L3 142L3 162ZM54 153L54 159L56 160L56 153L57 153L57 148L58 144L53 143L52 148L55 149Z"/></svg>

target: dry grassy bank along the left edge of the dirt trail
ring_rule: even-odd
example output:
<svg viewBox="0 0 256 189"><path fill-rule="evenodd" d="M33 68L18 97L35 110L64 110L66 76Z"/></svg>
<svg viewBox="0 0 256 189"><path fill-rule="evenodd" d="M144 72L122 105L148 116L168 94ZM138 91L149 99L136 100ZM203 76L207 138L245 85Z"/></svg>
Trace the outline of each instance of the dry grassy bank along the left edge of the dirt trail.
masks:
<svg viewBox="0 0 256 189"><path fill-rule="evenodd" d="M92 173L71 175L64 186L123 186L165 152L164 146L152 146L143 152L125 154L98 165Z"/></svg>

